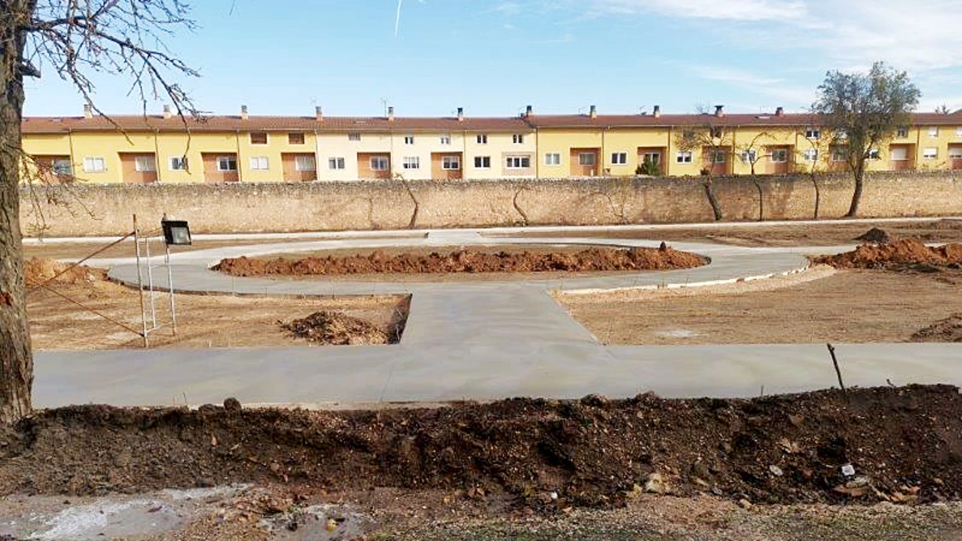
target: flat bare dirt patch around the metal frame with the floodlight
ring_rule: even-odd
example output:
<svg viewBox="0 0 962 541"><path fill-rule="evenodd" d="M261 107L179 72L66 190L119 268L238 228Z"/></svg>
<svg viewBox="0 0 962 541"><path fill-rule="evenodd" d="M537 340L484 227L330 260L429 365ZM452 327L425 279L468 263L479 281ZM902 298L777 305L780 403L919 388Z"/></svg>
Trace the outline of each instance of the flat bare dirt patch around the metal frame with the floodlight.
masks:
<svg viewBox="0 0 962 541"><path fill-rule="evenodd" d="M29 264L29 263L28 263ZM46 276L50 276L47 273ZM135 331L141 329L140 297L136 289L107 282L98 269L71 275L72 283L54 289ZM149 297L148 297L149 298ZM335 299L292 299L228 295L174 296L178 329L150 336L151 347L209 348L311 345L291 336L280 322L291 322L321 310L360 318L396 341L407 318L407 297L371 296ZM158 320L169 320L168 297L156 297ZM149 301L148 301L149 307ZM51 291L38 288L28 296L27 313L36 350L139 348L139 335L78 307ZM242 314L242 317L239 317Z"/></svg>

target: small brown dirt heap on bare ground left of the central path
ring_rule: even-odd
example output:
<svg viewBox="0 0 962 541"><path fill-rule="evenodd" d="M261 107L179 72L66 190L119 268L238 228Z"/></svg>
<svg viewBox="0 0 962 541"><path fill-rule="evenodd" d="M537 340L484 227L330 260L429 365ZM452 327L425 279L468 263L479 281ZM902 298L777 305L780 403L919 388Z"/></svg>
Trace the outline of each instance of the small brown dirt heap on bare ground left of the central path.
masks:
<svg viewBox="0 0 962 541"><path fill-rule="evenodd" d="M306 338L317 344L357 346L392 343L387 332L363 319L337 311L321 310L304 318L277 323L294 338Z"/></svg>

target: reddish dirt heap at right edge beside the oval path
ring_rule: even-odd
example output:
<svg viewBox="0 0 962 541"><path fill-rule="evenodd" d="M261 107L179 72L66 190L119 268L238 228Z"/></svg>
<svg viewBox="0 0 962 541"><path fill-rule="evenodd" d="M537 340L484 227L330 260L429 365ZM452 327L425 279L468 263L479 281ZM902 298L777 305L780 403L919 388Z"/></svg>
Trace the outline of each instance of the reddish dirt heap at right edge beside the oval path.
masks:
<svg viewBox="0 0 962 541"><path fill-rule="evenodd" d="M913 265L959 268L962 265L962 244L925 246L918 240L901 239L883 244L862 244L851 252L812 260L840 269L902 270L911 269Z"/></svg>

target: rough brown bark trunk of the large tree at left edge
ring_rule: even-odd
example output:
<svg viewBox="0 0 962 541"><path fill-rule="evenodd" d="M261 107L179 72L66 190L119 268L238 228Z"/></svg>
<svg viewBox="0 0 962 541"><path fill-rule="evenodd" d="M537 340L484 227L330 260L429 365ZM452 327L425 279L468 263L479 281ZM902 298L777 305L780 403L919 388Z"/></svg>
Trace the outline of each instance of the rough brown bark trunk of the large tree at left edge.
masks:
<svg viewBox="0 0 962 541"><path fill-rule="evenodd" d="M24 34L31 0L0 0L0 424L30 413L34 361L20 250L20 118Z"/></svg>

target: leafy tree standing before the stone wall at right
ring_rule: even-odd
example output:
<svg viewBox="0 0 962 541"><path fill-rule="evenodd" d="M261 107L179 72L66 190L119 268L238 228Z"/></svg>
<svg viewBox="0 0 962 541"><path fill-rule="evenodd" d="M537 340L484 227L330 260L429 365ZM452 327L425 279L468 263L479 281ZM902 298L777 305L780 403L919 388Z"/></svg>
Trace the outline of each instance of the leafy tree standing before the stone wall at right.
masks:
<svg viewBox="0 0 962 541"><path fill-rule="evenodd" d="M919 91L904 71L875 62L869 73L829 71L819 86L812 112L832 137L855 180L847 217L858 213L866 162L899 126L909 124L909 113L919 105Z"/></svg>

